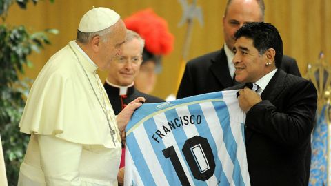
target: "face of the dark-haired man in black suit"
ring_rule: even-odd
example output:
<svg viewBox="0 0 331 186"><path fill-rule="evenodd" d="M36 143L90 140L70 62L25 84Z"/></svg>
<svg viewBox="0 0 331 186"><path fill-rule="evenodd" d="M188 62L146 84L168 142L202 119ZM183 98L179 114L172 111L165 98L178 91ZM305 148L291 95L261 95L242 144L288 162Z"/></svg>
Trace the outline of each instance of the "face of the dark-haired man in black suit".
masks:
<svg viewBox="0 0 331 186"><path fill-rule="evenodd" d="M256 82L265 74L268 74L265 63L265 54L260 56L259 51L253 45L253 40L239 37L234 43L234 68L236 68L236 81L241 83Z"/></svg>

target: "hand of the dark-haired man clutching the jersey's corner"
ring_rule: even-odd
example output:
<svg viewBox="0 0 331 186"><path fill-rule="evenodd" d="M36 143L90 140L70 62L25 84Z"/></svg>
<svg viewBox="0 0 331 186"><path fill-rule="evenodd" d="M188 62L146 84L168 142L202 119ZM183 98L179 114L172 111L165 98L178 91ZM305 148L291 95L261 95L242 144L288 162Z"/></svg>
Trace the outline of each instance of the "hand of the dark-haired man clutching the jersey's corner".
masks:
<svg viewBox="0 0 331 186"><path fill-rule="evenodd" d="M257 92L250 90L248 87L239 90L238 102L239 107L243 110L243 112L247 113L252 106L261 101L261 96L257 94Z"/></svg>

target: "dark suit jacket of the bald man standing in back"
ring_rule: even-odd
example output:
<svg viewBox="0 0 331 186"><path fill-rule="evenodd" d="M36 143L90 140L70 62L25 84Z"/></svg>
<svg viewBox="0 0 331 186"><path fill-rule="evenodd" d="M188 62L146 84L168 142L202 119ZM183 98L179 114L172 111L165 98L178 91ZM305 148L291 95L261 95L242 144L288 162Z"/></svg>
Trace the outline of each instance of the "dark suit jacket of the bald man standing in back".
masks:
<svg viewBox="0 0 331 186"><path fill-rule="evenodd" d="M297 62L289 56L283 57L281 69L290 74L301 76ZM228 59L222 48L188 61L181 85L179 85L177 99L217 92L233 85L228 68Z"/></svg>

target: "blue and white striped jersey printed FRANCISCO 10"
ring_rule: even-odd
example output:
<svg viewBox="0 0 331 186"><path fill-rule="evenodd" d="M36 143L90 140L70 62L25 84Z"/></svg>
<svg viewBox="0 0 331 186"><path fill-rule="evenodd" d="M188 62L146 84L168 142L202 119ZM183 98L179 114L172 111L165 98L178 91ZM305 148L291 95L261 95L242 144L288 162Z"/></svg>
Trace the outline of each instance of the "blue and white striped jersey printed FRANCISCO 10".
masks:
<svg viewBox="0 0 331 186"><path fill-rule="evenodd" d="M236 92L143 104L126 127L125 185L250 185Z"/></svg>

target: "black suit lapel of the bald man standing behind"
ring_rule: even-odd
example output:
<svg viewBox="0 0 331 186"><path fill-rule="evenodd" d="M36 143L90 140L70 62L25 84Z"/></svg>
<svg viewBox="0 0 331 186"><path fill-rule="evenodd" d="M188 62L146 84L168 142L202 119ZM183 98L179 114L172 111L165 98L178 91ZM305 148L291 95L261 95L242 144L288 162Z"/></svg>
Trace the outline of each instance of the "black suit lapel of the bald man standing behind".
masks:
<svg viewBox="0 0 331 186"><path fill-rule="evenodd" d="M225 54L224 48L221 52L214 58L211 59L212 65L210 66L210 71L216 77L217 81L223 85L223 87L231 87L232 79L228 67L228 59Z"/></svg>

